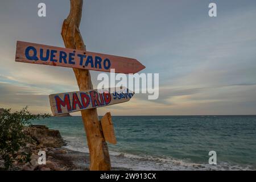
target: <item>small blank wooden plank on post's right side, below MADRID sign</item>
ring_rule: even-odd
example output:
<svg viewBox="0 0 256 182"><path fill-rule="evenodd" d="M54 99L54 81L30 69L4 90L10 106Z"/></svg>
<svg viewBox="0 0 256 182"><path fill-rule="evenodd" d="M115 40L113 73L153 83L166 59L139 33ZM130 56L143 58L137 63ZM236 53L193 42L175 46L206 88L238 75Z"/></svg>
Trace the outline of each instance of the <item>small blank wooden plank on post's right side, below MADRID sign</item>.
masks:
<svg viewBox="0 0 256 182"><path fill-rule="evenodd" d="M117 139L115 138L114 132L114 125L110 113L106 113L104 117L101 118L101 127L105 140L109 143L117 144Z"/></svg>

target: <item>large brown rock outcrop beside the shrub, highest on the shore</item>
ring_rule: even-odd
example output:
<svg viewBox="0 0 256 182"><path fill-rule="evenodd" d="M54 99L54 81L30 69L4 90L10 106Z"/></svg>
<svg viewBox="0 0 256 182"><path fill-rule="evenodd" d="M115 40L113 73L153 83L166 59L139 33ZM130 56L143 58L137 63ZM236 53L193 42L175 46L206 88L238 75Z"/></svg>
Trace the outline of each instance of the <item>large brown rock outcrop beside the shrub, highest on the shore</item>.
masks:
<svg viewBox="0 0 256 182"><path fill-rule="evenodd" d="M31 125L26 127L25 132L35 141L37 149L46 147L59 148L65 145L59 130L51 130L43 125Z"/></svg>

